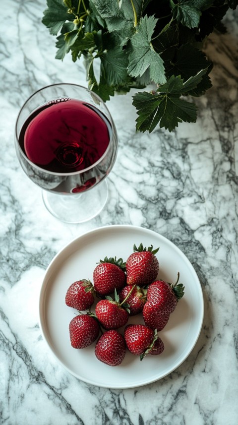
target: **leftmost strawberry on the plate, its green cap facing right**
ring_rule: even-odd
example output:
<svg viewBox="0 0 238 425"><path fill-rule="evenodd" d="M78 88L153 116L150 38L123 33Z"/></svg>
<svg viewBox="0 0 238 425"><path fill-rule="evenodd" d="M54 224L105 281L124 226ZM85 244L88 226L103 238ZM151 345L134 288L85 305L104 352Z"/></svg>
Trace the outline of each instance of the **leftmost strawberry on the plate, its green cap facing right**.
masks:
<svg viewBox="0 0 238 425"><path fill-rule="evenodd" d="M94 303L95 291L89 280L77 280L68 288L65 303L77 310L87 310Z"/></svg>

